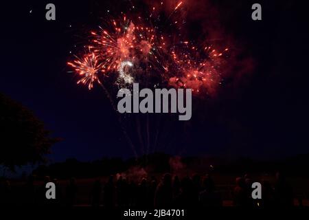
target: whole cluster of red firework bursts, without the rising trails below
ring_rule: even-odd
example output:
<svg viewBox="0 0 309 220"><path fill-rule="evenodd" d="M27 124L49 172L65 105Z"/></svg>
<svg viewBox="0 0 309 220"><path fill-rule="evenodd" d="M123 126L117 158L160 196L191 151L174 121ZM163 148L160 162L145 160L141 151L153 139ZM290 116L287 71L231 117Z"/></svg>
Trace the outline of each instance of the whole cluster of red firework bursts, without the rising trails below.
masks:
<svg viewBox="0 0 309 220"><path fill-rule="evenodd" d="M100 83L99 78L115 74L113 83L121 87L135 82L152 87L191 88L195 94L214 91L221 82L220 68L227 49L218 52L207 46L200 51L201 46L179 39L181 34L177 32L172 36L165 34L166 27L180 24L171 17L176 18L184 4L177 2L166 21L161 21L160 15L156 17L158 8L163 10L161 1L145 19L123 14L121 19L110 19L104 28L91 32L91 54L68 63L82 76L78 83L91 89L93 83Z"/></svg>

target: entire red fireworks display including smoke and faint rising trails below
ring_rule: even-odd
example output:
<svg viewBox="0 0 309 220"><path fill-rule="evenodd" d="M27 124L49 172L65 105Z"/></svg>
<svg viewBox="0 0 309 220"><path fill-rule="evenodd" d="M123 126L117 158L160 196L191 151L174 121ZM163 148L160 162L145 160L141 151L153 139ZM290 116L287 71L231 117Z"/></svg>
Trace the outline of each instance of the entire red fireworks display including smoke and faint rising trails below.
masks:
<svg viewBox="0 0 309 220"><path fill-rule="evenodd" d="M87 45L89 52L68 63L80 77L78 83L87 85L88 89L95 83L100 84L115 111L114 87L132 89L133 83L139 83L147 88L186 88L192 89L192 94L200 98L213 94L222 82L222 69L225 69L229 50L209 43L211 40L195 44L199 42L196 39L183 39L187 35L184 6L189 5L188 1L168 3L168 9L163 1L154 4L149 10L143 8L142 11L137 10L138 7L135 10L132 5L130 9L134 10L128 10L129 15L121 12L117 17L104 20L97 30L91 31ZM148 115L145 123L136 118L136 124L130 121L130 116L117 116L135 155L137 143L130 138L133 128L127 129L128 124L134 124L134 131L137 130L137 145L141 146L141 152L146 150L148 153L152 134ZM125 122L128 122L127 126ZM160 120L155 122L156 148L162 145L160 138L165 135L159 135Z"/></svg>

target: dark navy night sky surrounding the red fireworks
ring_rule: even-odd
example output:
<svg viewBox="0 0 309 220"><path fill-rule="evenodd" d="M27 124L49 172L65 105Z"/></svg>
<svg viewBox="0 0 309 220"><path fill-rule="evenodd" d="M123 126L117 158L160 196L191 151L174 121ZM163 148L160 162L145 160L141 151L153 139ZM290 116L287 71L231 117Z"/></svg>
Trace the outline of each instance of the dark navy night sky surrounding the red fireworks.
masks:
<svg viewBox="0 0 309 220"><path fill-rule="evenodd" d="M50 2L56 5L56 21L45 20ZM308 153L309 25L303 1L259 1L262 21L251 20L255 1L213 2L219 15L214 21L220 21L255 67L206 100L192 122L181 124L185 133L175 135L185 137L174 138L166 151L252 157ZM100 25L100 14L126 5L128 1L1 3L0 91L32 109L54 136L63 138L52 148L54 161L132 156L102 89L76 85L66 64L74 45L84 43L84 36ZM192 36L203 32L198 28L204 21L188 20Z"/></svg>

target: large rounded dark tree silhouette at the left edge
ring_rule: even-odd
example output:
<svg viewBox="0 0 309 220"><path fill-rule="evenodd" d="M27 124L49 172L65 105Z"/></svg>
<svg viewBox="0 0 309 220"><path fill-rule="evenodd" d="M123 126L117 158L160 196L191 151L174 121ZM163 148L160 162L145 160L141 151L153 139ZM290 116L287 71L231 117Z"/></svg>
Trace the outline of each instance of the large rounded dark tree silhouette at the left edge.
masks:
<svg viewBox="0 0 309 220"><path fill-rule="evenodd" d="M28 163L43 162L58 139L32 111L0 94L0 164L10 170Z"/></svg>

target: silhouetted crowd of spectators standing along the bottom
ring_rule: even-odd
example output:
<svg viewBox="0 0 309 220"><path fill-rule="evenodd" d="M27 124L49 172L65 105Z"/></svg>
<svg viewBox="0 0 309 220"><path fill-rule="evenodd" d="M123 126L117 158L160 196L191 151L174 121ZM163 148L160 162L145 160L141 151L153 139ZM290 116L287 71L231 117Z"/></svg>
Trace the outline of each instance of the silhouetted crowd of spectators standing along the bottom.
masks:
<svg viewBox="0 0 309 220"><path fill-rule="evenodd" d="M9 181L3 181L0 188L0 203L23 203L27 205L54 205L76 206L79 186L76 179L70 179L62 190L56 184L56 199L48 200L45 197L45 183L51 181L45 177L43 185L36 186L33 177L26 184L20 186L23 201L14 201L14 193ZM293 192L286 179L277 173L275 184L262 181L262 199L253 199L251 188L253 181L249 175L236 178L236 186L231 190L233 206L241 207L288 207L293 206ZM138 183L119 176L111 176L105 183L100 179L93 182L90 190L89 203L91 206L104 206L106 208L203 208L223 206L220 190L216 188L210 175L201 177L179 178L169 173L163 175L160 181L155 177L142 178ZM86 204L84 204L86 205Z"/></svg>

